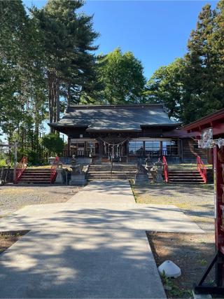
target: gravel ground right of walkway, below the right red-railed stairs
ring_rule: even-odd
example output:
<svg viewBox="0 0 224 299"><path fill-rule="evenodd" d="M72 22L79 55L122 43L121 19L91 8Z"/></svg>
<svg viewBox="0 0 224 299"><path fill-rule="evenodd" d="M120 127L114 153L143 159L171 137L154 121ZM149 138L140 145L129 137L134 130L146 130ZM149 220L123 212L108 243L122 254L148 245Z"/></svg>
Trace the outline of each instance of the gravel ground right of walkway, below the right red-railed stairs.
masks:
<svg viewBox="0 0 224 299"><path fill-rule="evenodd" d="M138 203L174 204L203 230L214 231L214 186L155 184L134 186Z"/></svg>

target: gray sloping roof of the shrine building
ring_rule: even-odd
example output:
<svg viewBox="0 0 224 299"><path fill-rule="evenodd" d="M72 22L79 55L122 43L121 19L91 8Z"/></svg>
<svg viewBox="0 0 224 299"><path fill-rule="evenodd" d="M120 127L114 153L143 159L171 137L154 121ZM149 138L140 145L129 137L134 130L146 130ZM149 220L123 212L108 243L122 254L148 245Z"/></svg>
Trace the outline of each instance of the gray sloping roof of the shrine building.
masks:
<svg viewBox="0 0 224 299"><path fill-rule="evenodd" d="M87 132L141 131L141 126L171 126L181 123L169 119L162 104L70 106L58 123L52 127L87 127Z"/></svg>

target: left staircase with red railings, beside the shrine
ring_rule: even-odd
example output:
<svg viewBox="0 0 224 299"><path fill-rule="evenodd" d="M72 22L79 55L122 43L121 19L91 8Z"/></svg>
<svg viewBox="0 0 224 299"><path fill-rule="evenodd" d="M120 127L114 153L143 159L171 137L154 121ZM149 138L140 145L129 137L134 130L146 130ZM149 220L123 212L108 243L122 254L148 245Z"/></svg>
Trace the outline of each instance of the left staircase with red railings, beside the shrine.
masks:
<svg viewBox="0 0 224 299"><path fill-rule="evenodd" d="M50 183L50 168L27 168L18 183Z"/></svg>

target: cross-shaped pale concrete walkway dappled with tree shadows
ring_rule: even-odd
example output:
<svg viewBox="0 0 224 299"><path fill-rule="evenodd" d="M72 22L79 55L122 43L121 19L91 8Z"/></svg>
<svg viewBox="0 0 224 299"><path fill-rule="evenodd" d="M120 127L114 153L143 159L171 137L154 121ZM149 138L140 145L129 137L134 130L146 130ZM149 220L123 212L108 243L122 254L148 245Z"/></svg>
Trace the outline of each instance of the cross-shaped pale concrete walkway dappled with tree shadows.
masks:
<svg viewBox="0 0 224 299"><path fill-rule="evenodd" d="M0 298L165 298L146 230L203 232L174 206L135 204L125 181L1 219L30 230L0 256Z"/></svg>

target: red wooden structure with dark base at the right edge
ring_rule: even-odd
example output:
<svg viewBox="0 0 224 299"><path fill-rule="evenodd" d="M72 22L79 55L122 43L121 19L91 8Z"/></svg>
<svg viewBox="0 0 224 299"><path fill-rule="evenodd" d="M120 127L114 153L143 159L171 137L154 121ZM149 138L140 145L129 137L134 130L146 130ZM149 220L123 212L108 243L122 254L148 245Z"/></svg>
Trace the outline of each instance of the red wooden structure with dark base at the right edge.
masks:
<svg viewBox="0 0 224 299"><path fill-rule="evenodd" d="M195 286L195 292L224 294L224 109L200 118L183 129L195 134L200 146L207 148L209 162L214 165L216 255ZM216 267L216 285L204 285L213 266Z"/></svg>

